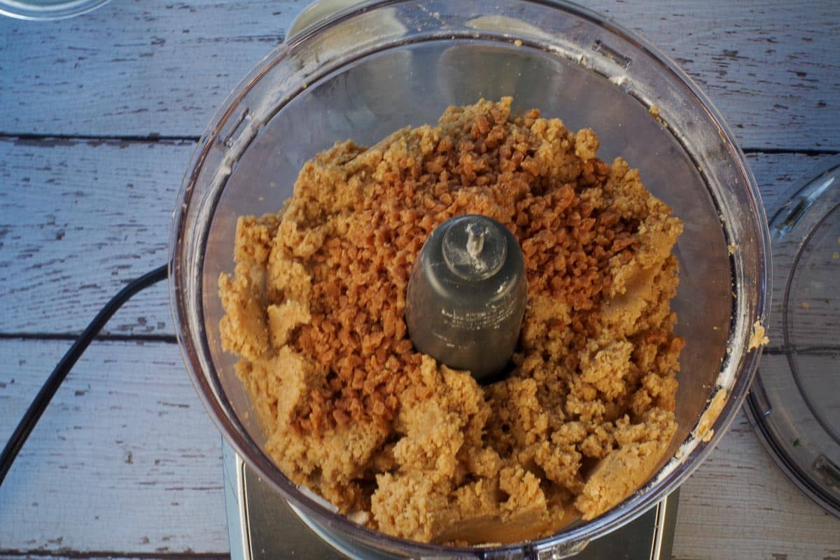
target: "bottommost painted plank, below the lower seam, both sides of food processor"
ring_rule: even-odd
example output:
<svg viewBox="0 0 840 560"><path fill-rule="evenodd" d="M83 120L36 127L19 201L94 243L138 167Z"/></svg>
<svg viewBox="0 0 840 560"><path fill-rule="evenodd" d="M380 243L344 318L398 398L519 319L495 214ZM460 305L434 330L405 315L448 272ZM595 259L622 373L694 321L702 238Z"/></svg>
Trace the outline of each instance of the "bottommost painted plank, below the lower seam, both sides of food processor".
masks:
<svg viewBox="0 0 840 560"><path fill-rule="evenodd" d="M67 345L0 341L0 440ZM0 557L226 552L219 446L174 344L94 344L0 488ZM677 526L679 560L840 551L837 520L775 468L743 415L682 486Z"/></svg>

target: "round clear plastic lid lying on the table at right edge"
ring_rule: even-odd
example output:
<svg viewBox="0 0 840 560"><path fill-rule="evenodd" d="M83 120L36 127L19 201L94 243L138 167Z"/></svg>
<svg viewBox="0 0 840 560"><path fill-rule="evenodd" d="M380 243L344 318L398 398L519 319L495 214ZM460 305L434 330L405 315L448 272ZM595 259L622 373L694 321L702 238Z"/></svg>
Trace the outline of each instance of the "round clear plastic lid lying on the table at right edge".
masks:
<svg viewBox="0 0 840 560"><path fill-rule="evenodd" d="M774 303L749 420L785 474L840 517L840 155L769 222Z"/></svg>

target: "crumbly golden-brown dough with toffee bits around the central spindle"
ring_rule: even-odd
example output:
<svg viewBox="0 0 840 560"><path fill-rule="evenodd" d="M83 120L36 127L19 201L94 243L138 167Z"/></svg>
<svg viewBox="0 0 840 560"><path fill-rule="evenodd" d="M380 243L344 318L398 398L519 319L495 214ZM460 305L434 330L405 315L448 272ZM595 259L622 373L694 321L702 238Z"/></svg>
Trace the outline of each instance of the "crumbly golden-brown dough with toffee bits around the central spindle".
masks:
<svg viewBox="0 0 840 560"><path fill-rule="evenodd" d="M239 219L223 347L283 473L371 528L515 542L638 488L675 432L682 230L598 139L511 98L449 107L304 165L277 214ZM528 308L507 379L417 353L403 311L433 228L475 213L522 246Z"/></svg>

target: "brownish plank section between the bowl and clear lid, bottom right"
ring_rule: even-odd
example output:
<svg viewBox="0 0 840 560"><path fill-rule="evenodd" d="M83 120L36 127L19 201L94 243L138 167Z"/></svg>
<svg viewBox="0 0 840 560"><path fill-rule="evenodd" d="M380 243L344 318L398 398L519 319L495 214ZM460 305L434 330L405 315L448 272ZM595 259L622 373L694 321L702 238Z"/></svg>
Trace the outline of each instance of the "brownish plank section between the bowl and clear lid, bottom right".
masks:
<svg viewBox="0 0 840 560"><path fill-rule="evenodd" d="M840 520L785 478L743 412L680 487L675 560L840 557Z"/></svg>

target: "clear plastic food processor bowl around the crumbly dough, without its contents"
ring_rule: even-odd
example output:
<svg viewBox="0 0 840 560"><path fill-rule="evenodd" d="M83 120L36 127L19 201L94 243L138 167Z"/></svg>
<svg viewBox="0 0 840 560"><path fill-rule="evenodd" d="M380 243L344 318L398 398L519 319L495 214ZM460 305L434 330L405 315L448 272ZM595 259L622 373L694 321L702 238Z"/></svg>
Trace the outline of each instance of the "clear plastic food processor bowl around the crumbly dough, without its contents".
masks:
<svg viewBox="0 0 840 560"><path fill-rule="evenodd" d="M570 129L594 128L600 157L638 167L685 222L673 301L687 341L679 429L647 483L592 521L503 547L410 542L334 514L265 454L235 357L219 343L218 275L234 268L237 217L276 212L318 151L343 139L373 144L397 128L435 123L449 105L506 95ZM186 366L224 437L323 534L391 557L563 557L641 515L697 468L732 421L759 359L748 348L753 323L769 311L764 211L723 119L654 46L570 3L365 3L281 45L203 134L181 186L170 264Z"/></svg>

